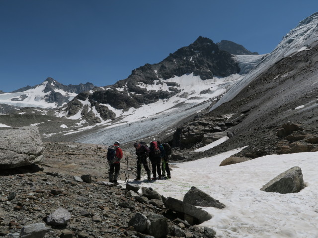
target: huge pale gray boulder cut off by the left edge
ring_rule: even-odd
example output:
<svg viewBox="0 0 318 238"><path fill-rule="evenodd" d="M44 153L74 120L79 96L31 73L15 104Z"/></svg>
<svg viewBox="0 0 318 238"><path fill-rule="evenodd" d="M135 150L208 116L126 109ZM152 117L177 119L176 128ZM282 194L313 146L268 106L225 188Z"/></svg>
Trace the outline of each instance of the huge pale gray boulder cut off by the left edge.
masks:
<svg viewBox="0 0 318 238"><path fill-rule="evenodd" d="M35 126L1 130L0 168L39 164L44 159L43 150L44 145Z"/></svg>

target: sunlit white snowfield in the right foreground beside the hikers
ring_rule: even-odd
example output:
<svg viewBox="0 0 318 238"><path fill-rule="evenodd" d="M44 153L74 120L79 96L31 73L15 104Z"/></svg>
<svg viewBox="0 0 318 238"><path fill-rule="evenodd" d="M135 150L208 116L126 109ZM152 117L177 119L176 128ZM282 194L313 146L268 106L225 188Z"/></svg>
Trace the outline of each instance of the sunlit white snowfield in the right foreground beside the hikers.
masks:
<svg viewBox="0 0 318 238"><path fill-rule="evenodd" d="M239 150L179 163L179 168L171 171L171 179L143 182L142 186L180 200L195 186L220 200L226 205L224 209L202 207L213 218L201 226L213 228L217 238L317 238L318 171L313 165L318 152L269 155L219 166ZM294 166L303 172L307 187L302 191L280 194L260 190Z"/></svg>

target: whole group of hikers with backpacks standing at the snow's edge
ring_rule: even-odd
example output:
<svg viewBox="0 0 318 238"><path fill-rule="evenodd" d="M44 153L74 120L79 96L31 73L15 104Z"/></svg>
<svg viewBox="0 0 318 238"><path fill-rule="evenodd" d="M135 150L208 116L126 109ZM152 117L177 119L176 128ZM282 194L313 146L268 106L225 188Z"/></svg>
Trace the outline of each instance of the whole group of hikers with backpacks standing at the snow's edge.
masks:
<svg viewBox="0 0 318 238"><path fill-rule="evenodd" d="M142 165L147 173L149 181L156 179L171 179L169 169L169 155L171 155L171 147L168 143L161 141L152 141L150 146L143 141L134 143L137 155L137 177L135 181L141 180ZM113 145L107 149L107 161L109 163L109 182L117 183L117 178L120 171L120 160L123 158L123 151L120 148L120 143L115 141ZM147 158L152 164L153 177L149 169ZM158 177L157 177L158 174Z"/></svg>

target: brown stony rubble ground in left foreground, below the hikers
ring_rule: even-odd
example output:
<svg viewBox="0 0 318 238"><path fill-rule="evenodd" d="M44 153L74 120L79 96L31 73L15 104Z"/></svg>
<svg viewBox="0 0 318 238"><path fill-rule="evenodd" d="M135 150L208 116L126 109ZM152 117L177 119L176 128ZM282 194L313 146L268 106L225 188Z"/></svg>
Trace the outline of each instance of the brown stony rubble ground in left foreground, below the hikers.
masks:
<svg viewBox="0 0 318 238"><path fill-rule="evenodd" d="M0 173L0 237L19 237L29 224L44 223L45 238L151 238L128 226L137 213L165 214L162 202L140 199L141 194L114 186L108 180L105 147L79 143L45 143L45 160L38 166L5 170ZM129 153L125 152L124 157ZM130 178L135 161L122 162ZM74 176L91 175L91 183ZM147 183L141 186L147 187ZM141 189L140 189L141 190ZM139 198L137 198L139 197ZM47 217L64 208L71 214L63 226L47 224ZM168 238L214 237L198 226L187 226L168 219ZM32 236L30 236L32 237ZM33 238L36 238L35 236Z"/></svg>

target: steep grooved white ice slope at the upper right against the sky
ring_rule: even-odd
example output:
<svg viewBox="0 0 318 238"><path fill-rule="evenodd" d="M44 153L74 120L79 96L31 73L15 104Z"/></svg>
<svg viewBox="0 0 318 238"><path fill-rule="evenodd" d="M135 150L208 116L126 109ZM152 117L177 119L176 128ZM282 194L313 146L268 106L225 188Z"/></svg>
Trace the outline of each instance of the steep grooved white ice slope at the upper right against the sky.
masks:
<svg viewBox="0 0 318 238"><path fill-rule="evenodd" d="M278 44L274 51L268 54L252 71L246 74L210 109L233 99L247 84L272 66L275 62L289 57L294 53L310 49L318 41L318 12L301 21Z"/></svg>

